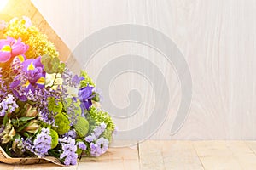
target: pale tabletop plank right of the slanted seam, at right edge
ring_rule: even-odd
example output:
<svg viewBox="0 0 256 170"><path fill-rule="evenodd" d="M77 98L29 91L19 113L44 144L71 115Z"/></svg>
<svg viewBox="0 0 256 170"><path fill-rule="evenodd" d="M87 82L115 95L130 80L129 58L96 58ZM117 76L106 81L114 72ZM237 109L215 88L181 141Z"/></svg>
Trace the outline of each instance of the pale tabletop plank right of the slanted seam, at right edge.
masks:
<svg viewBox="0 0 256 170"><path fill-rule="evenodd" d="M255 153L243 141L196 141L193 145L205 169L255 168Z"/></svg>

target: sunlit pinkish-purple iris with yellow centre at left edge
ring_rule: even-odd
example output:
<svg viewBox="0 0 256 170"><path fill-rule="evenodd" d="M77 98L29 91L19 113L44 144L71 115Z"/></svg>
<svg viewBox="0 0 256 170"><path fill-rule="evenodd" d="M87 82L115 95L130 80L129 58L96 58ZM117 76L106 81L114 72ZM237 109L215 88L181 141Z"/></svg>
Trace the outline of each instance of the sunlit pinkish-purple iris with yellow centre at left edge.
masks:
<svg viewBox="0 0 256 170"><path fill-rule="evenodd" d="M20 54L25 54L28 45L21 42L21 39L7 37L7 39L0 40L0 63L6 63L10 59Z"/></svg>

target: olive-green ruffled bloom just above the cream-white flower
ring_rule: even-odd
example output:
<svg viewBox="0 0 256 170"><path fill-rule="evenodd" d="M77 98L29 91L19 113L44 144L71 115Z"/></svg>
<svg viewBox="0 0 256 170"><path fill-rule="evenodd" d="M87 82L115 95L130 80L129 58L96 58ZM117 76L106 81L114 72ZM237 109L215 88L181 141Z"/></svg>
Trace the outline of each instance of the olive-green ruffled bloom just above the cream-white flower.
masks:
<svg viewBox="0 0 256 170"><path fill-rule="evenodd" d="M51 57L48 54L42 56L41 62L44 65L44 71L49 74L62 73L65 69L65 64L58 57Z"/></svg>

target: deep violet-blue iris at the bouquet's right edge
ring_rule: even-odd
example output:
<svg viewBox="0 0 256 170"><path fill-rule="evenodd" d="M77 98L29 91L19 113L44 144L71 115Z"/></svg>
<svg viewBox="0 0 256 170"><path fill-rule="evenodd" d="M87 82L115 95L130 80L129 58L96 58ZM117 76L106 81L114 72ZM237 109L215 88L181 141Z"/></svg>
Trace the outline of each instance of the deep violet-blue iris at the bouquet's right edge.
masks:
<svg viewBox="0 0 256 170"><path fill-rule="evenodd" d="M79 89L79 100L81 102L81 108L83 110L88 110L90 108L90 105L92 105L91 99L94 97L92 95L93 89L94 87L90 87L89 85Z"/></svg>

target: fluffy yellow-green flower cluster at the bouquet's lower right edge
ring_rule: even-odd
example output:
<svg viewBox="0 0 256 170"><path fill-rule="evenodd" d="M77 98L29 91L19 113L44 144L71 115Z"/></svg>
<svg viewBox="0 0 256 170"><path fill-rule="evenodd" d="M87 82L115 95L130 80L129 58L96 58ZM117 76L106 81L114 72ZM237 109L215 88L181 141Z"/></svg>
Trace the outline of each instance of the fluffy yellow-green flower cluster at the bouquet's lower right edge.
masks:
<svg viewBox="0 0 256 170"><path fill-rule="evenodd" d="M109 116L106 111L102 111L97 109L95 106L91 106L88 111L88 117L89 121L95 122L96 125L104 122L107 125L107 129L113 132L115 126L111 116Z"/></svg>

